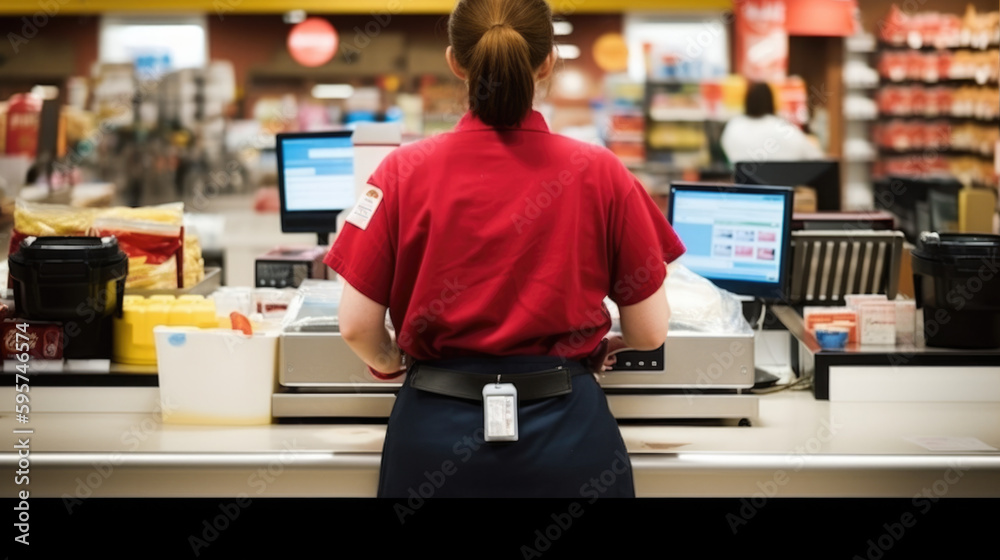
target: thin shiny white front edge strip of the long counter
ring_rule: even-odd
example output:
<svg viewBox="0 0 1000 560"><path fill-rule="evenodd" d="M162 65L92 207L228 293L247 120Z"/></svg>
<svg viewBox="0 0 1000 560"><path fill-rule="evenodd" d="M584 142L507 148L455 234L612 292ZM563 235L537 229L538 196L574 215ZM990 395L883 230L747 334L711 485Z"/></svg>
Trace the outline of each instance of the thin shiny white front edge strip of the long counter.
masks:
<svg viewBox="0 0 1000 560"><path fill-rule="evenodd" d="M947 470L998 471L1000 453L935 455L847 455L779 453L633 453L637 471L732 470ZM0 454L0 465L15 467L19 457ZM130 468L245 468L279 462L299 469L377 469L381 454L371 452L283 451L230 453L31 453L36 468L91 468L110 463Z"/></svg>

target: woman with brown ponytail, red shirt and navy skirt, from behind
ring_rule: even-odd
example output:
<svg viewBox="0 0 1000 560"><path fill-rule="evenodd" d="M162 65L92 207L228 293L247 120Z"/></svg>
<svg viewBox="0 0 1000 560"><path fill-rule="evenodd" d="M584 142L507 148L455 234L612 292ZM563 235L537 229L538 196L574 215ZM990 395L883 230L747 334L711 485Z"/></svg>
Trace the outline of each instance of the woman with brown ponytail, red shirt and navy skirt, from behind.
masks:
<svg viewBox="0 0 1000 560"><path fill-rule="evenodd" d="M664 262L683 246L618 159L532 110L556 61L544 0L461 0L448 34L469 111L383 161L326 257L346 281L344 340L373 375L408 373L378 495L633 496L592 374L602 301L619 344L658 348Z"/></svg>

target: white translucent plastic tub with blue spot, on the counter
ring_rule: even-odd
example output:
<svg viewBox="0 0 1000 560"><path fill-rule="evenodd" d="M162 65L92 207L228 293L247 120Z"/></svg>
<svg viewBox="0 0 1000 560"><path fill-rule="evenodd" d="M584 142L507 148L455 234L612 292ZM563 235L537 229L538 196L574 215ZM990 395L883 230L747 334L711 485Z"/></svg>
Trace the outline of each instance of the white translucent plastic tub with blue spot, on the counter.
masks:
<svg viewBox="0 0 1000 560"><path fill-rule="evenodd" d="M164 423L271 423L277 332L161 326L153 334Z"/></svg>

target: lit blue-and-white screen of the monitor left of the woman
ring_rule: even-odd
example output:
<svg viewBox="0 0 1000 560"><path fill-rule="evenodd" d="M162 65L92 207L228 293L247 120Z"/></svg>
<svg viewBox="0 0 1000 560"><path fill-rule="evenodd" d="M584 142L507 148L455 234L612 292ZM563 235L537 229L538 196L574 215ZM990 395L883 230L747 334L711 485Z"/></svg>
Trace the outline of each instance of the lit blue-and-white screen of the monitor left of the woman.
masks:
<svg viewBox="0 0 1000 560"><path fill-rule="evenodd" d="M354 206L350 136L281 139L285 210L344 210Z"/></svg>

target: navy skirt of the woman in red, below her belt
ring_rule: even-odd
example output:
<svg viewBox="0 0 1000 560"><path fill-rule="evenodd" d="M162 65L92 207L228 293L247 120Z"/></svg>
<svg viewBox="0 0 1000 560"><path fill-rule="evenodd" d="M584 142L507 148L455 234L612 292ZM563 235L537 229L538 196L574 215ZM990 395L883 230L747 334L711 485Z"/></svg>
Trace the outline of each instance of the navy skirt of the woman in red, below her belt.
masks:
<svg viewBox="0 0 1000 560"><path fill-rule="evenodd" d="M483 404L403 384L386 429L380 498L635 497L632 465L607 397L579 362L559 357L455 358L424 362L500 374L570 368L573 391L518 405L516 442L483 440ZM420 367L420 362L414 364ZM411 372L412 373L412 372ZM409 377L408 377L409 378Z"/></svg>

